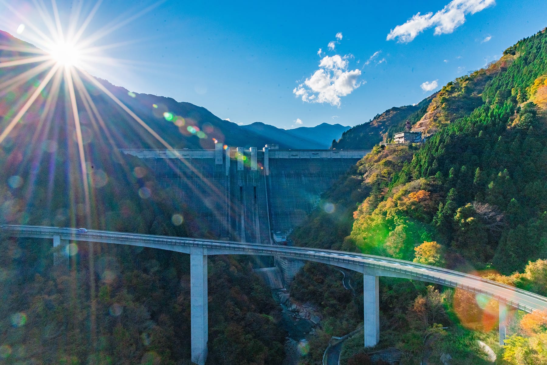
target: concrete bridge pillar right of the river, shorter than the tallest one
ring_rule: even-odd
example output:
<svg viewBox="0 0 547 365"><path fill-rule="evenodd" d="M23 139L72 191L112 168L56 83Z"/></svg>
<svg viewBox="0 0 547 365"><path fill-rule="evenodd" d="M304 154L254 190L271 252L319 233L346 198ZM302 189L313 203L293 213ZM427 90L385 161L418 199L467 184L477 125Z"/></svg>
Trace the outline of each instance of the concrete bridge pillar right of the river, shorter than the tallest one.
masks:
<svg viewBox="0 0 547 365"><path fill-rule="evenodd" d="M378 302L378 277L363 275L363 302L365 347L380 341L380 303Z"/></svg>

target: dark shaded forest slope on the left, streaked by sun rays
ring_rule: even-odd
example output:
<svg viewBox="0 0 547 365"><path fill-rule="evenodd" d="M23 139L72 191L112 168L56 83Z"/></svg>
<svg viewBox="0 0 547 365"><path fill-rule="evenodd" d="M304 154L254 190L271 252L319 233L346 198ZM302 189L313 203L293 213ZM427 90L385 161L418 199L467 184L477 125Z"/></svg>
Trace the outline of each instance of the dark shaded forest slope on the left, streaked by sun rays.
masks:
<svg viewBox="0 0 547 365"><path fill-rule="evenodd" d="M1 70L0 84L8 85L0 88L4 132L43 73L26 74L17 83L13 77L22 69ZM195 221L172 192L161 189L146 165L118 152L121 141L130 141L130 147L131 141L147 141L150 135L124 124L119 108L109 114L114 120L101 120L79 96L78 130L67 107L67 85L57 86L41 92L0 142L0 225L207 237L209 228ZM86 86L96 94L96 88ZM94 100L103 112L112 107L100 97ZM195 106L177 105L181 113L182 108L195 111ZM2 362L190 363L188 255L70 242L68 250L57 252L65 263L54 266L50 240L0 236L0 243ZM209 260L212 363L282 361L285 333L277 326L279 309L249 260Z"/></svg>

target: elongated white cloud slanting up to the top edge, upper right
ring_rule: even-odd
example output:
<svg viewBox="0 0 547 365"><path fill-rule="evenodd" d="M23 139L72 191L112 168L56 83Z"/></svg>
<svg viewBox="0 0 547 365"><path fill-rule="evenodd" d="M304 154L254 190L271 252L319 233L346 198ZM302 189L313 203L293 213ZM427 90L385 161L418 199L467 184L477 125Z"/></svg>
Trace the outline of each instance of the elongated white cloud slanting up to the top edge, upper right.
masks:
<svg viewBox="0 0 547 365"><path fill-rule="evenodd" d="M495 0L452 0L437 13L415 14L405 24L398 25L389 32L386 40L397 39L400 43L412 42L424 30L435 27L435 35L452 33L464 24L465 15L475 14L495 4Z"/></svg>

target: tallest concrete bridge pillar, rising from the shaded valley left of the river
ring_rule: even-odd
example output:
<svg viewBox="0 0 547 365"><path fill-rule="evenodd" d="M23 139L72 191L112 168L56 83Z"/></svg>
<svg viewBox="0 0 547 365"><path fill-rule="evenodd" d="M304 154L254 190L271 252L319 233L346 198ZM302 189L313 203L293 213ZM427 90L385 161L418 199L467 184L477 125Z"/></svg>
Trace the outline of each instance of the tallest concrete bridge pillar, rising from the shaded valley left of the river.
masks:
<svg viewBox="0 0 547 365"><path fill-rule="evenodd" d="M207 317L207 255L202 247L190 250L190 346L192 361L204 365L209 338Z"/></svg>

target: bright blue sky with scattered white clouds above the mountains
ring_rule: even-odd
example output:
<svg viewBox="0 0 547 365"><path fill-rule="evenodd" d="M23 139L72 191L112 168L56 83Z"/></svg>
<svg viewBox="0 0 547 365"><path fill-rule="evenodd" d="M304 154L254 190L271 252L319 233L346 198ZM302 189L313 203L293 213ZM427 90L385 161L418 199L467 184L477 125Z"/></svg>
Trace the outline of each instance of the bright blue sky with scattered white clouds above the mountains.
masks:
<svg viewBox="0 0 547 365"><path fill-rule="evenodd" d="M78 2L56 4L66 29ZM95 4L83 1L82 14ZM94 54L108 59L89 61L88 71L131 91L191 102L241 124L353 126L499 58L547 26L545 14L544 0L109 0L82 39L109 31L91 43L113 44ZM25 0L0 1L0 29L31 43L36 29L47 33Z"/></svg>

